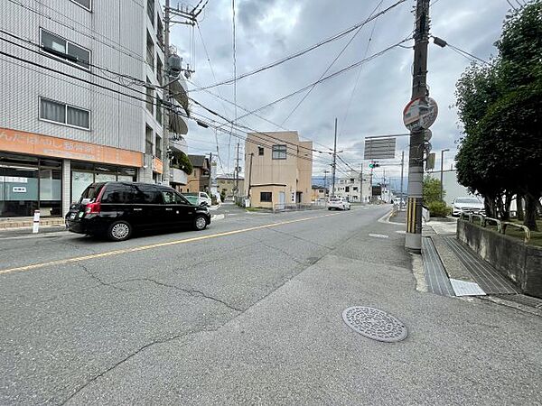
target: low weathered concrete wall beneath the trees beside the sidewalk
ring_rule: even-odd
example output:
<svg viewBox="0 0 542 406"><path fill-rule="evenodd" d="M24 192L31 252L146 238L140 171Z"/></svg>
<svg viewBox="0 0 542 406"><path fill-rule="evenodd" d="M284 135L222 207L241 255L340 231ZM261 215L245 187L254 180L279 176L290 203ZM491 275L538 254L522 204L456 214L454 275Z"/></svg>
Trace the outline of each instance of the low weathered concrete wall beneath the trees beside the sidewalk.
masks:
<svg viewBox="0 0 542 406"><path fill-rule="evenodd" d="M457 222L457 238L507 276L522 292L542 298L542 248L525 245L465 220Z"/></svg>

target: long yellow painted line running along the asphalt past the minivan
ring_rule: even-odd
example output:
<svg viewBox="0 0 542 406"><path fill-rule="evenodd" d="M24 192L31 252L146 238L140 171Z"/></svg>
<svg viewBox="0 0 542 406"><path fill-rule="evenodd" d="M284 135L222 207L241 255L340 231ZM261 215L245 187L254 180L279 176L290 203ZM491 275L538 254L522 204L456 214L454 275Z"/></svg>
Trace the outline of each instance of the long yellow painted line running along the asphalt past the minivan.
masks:
<svg viewBox="0 0 542 406"><path fill-rule="evenodd" d="M208 240L210 238L217 238L217 237L225 236L225 235L236 235L236 234L241 234L241 233L247 233L248 231L260 230L262 228L284 226L286 224L299 223L299 222L302 222L302 221L313 220L313 219L316 219L316 218L337 216L337 214L339 214L339 213L332 213L332 214L327 214L327 215L322 215L322 216L314 216L314 217L297 218L295 220L286 220L286 221L281 221L281 222L278 222L278 223L266 224L266 225L263 225L263 226L254 226L254 227L248 227L248 228L241 228L241 229L233 230L233 231L226 231L224 233L211 234L211 235L201 235L201 236L192 237L192 238L185 238L185 239L182 239L182 240L168 241L168 242L165 242L165 243L157 243L157 244L151 244L151 245L135 246L133 248L125 248L125 249L122 249L122 250L106 251L105 253L90 254L90 255L84 255L84 256L77 256L77 257L73 257L73 258L66 258L66 259L57 260L57 261L50 261L48 263L33 263L31 265L24 265L24 266L18 266L16 268L0 270L0 275L3 275L5 273L12 273L12 272L30 271L30 270L37 269L37 268L43 268L43 267L51 266L51 265L61 265L61 264L64 264L64 263L79 263L81 261L87 261L87 260L96 259L96 258L103 258L103 257L107 257L107 256L112 256L112 255L136 253L138 251L145 251L145 250L150 250L150 249L153 249L153 248L160 248L160 247L168 246L168 245L179 245L179 244L193 243L194 241Z"/></svg>

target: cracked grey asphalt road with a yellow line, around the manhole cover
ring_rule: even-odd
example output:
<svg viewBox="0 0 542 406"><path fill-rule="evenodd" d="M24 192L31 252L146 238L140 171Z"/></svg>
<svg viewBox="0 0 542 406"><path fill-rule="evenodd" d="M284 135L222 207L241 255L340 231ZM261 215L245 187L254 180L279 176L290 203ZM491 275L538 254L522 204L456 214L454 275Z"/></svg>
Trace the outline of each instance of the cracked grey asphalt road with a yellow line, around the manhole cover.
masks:
<svg viewBox="0 0 542 406"><path fill-rule="evenodd" d="M388 207L0 235L0 404L536 404L542 319L415 290ZM387 236L387 237L385 237ZM348 328L384 309L409 336Z"/></svg>

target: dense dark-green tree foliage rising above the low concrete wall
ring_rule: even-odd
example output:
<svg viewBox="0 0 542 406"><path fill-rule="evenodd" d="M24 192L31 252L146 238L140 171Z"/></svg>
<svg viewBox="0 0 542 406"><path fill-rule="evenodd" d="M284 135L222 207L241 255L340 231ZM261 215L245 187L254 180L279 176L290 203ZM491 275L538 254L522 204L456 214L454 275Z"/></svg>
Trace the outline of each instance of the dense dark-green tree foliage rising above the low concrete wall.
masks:
<svg viewBox="0 0 542 406"><path fill-rule="evenodd" d="M524 224L537 229L542 194L542 0L510 14L488 66L472 65L456 86L464 136L458 180L484 197L486 212L509 216L513 195L526 201Z"/></svg>

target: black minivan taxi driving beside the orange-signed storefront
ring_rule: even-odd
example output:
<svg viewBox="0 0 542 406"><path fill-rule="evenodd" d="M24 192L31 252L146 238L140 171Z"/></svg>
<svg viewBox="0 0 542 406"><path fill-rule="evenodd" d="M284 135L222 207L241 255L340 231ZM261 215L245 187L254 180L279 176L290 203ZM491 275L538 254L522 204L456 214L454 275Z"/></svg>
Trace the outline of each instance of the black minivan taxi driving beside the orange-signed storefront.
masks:
<svg viewBox="0 0 542 406"><path fill-rule="evenodd" d="M209 209L194 206L175 189L136 182L92 183L66 215L73 233L123 241L135 230L210 224Z"/></svg>

